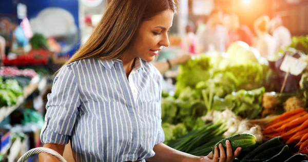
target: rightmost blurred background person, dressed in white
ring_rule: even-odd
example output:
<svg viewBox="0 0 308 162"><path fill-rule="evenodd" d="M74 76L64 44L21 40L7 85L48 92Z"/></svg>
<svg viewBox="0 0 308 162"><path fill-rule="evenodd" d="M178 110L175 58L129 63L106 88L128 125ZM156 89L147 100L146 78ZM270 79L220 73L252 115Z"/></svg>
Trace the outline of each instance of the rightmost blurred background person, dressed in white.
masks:
<svg viewBox="0 0 308 162"><path fill-rule="evenodd" d="M283 46L288 46L292 42L291 32L282 25L282 18L280 15L271 20L271 34L275 38L276 52Z"/></svg>

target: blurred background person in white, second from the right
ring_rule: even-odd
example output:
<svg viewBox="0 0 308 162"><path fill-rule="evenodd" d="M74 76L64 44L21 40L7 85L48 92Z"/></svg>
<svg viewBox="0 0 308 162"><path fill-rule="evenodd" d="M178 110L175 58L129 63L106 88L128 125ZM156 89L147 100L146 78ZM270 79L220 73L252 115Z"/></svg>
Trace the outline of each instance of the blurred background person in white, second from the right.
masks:
<svg viewBox="0 0 308 162"><path fill-rule="evenodd" d="M254 23L254 29L257 34L255 48L262 57L271 59L275 55L276 43L272 35L268 33L269 17L261 16Z"/></svg>

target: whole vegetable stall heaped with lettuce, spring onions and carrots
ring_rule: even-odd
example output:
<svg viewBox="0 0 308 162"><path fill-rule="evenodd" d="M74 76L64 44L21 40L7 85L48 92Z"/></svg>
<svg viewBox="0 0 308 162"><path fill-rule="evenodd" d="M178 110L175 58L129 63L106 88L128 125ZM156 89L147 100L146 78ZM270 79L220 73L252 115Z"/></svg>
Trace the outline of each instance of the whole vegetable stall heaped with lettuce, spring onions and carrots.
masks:
<svg viewBox="0 0 308 162"><path fill-rule="evenodd" d="M307 40L294 37L273 60L244 42L192 56L162 94L165 144L201 156L231 136L243 147L238 161L305 160Z"/></svg>

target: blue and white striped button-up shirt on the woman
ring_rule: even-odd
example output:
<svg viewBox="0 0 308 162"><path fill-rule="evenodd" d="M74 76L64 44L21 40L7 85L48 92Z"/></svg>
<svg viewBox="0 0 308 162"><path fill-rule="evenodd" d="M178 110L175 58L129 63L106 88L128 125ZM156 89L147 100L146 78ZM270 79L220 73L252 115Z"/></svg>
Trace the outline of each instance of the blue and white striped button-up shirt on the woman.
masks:
<svg viewBox="0 0 308 162"><path fill-rule="evenodd" d="M153 147L164 141L162 77L138 58L128 78L119 59L64 66L48 94L42 142L65 145L70 139L75 161L145 161L155 155Z"/></svg>

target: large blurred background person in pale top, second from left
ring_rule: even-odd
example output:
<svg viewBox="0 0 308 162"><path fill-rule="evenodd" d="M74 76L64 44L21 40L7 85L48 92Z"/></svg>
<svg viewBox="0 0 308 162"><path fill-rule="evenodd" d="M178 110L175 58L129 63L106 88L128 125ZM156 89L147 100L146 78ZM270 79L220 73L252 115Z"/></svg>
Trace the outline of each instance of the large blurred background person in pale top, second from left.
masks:
<svg viewBox="0 0 308 162"><path fill-rule="evenodd" d="M205 29L197 35L196 53L211 50L224 52L228 40L228 32L222 25L223 14L214 10L209 14Z"/></svg>

